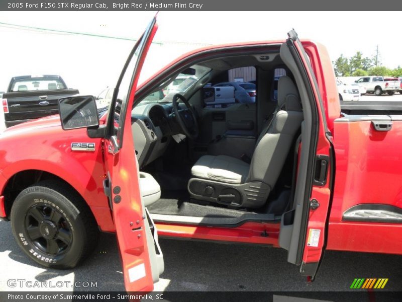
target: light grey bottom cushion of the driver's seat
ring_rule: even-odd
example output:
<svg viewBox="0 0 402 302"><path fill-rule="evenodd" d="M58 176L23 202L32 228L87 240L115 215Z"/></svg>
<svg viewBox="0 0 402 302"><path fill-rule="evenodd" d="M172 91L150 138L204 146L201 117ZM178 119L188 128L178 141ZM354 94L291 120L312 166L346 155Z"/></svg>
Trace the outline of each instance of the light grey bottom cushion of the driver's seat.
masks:
<svg viewBox="0 0 402 302"><path fill-rule="evenodd" d="M205 155L191 168L191 174L198 178L241 184L246 180L249 170L249 164L236 158L226 155Z"/></svg>

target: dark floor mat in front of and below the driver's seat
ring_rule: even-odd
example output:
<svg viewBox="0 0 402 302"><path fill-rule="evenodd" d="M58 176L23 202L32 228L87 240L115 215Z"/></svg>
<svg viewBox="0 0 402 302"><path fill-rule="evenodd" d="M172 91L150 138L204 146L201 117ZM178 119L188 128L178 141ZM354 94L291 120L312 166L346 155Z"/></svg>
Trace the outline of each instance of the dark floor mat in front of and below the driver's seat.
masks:
<svg viewBox="0 0 402 302"><path fill-rule="evenodd" d="M238 209L228 209L214 205L203 205L190 202L187 191L164 192L162 197L149 205L148 210L153 214L193 216L193 217L240 217L254 212Z"/></svg>

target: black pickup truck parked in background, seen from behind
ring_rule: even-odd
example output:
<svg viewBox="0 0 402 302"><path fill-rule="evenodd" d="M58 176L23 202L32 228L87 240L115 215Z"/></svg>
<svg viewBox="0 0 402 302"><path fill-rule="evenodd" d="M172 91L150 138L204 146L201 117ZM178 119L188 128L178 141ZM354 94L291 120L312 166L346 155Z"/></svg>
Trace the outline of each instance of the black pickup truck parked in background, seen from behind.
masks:
<svg viewBox="0 0 402 302"><path fill-rule="evenodd" d="M6 127L58 114L58 100L77 95L59 75L22 75L11 79L2 96Z"/></svg>

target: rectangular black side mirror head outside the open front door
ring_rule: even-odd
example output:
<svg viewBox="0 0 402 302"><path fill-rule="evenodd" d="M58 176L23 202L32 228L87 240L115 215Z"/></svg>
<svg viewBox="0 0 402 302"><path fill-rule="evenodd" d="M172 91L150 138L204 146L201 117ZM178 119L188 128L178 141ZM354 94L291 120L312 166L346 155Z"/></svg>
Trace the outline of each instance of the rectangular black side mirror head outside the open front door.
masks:
<svg viewBox="0 0 402 302"><path fill-rule="evenodd" d="M59 99L59 113L63 130L99 125L96 102L93 96Z"/></svg>

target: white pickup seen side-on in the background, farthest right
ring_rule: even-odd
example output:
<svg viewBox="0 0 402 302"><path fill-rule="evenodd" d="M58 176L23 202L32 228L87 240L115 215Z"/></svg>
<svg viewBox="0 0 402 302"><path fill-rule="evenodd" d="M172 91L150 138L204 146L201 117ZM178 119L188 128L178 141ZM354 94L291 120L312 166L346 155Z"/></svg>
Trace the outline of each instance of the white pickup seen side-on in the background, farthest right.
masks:
<svg viewBox="0 0 402 302"><path fill-rule="evenodd" d="M384 77L362 77L355 81L360 86L366 88L367 93L373 93L376 96L380 96L383 93L387 93L388 95L393 95L395 92L399 91L399 81L384 78Z"/></svg>

